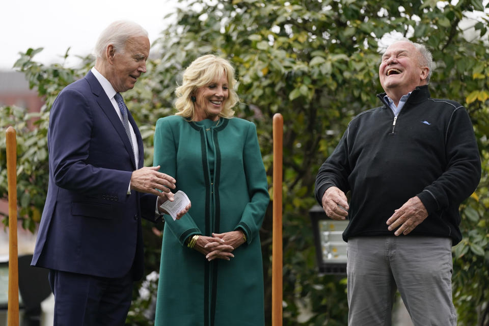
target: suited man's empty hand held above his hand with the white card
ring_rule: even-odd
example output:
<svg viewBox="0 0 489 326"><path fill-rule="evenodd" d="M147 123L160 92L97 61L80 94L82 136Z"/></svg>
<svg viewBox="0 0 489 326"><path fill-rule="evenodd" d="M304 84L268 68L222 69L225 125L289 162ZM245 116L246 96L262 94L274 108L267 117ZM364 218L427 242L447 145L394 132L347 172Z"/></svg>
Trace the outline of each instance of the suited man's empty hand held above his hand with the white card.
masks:
<svg viewBox="0 0 489 326"><path fill-rule="evenodd" d="M141 192L157 195L160 197L173 199L173 194L164 195L164 193L171 193L170 189L175 189L175 179L165 173L158 172L157 167L144 167L139 170L133 171L131 176L131 189ZM160 190L162 193L158 192Z"/></svg>

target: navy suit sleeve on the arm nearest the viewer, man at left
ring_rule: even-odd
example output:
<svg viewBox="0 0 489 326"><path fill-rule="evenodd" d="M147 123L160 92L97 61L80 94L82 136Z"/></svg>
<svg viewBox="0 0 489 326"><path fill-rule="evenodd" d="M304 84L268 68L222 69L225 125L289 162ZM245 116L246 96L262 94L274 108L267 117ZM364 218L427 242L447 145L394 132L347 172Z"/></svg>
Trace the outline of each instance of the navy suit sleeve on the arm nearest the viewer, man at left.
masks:
<svg viewBox="0 0 489 326"><path fill-rule="evenodd" d="M90 101L74 89L63 90L53 103L49 121L49 164L56 185L86 195L111 193L126 199L132 171L88 164L93 114Z"/></svg>

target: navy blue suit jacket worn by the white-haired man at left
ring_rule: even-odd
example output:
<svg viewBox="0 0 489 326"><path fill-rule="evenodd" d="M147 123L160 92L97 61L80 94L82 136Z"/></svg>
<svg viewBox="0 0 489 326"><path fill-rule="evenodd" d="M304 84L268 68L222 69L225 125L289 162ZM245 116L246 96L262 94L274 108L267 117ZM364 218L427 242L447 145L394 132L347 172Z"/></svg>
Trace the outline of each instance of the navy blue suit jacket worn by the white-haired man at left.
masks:
<svg viewBox="0 0 489 326"><path fill-rule="evenodd" d="M129 114L143 167L143 141ZM32 265L101 277L143 275L141 218L156 196L127 195L134 155L123 124L92 72L52 105L49 185Z"/></svg>

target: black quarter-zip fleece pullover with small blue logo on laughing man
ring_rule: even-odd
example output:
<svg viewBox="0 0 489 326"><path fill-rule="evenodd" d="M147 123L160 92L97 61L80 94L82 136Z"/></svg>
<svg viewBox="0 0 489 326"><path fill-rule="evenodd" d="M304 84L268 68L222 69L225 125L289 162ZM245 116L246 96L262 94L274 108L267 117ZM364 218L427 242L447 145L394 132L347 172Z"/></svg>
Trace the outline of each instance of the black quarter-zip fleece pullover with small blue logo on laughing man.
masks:
<svg viewBox="0 0 489 326"><path fill-rule="evenodd" d="M319 169L316 199L331 186L351 191L343 233L390 236L386 221L406 201L418 196L428 217L409 235L461 240L460 203L477 187L480 157L470 117L463 106L430 98L428 86L417 87L394 120L384 106L350 121L338 146Z"/></svg>

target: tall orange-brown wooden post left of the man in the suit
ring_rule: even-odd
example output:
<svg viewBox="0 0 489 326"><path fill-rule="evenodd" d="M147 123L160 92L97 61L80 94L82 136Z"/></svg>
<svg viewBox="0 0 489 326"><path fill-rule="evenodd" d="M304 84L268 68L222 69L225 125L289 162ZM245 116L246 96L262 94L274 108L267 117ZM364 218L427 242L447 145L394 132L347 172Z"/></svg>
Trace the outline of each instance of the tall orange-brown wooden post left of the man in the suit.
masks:
<svg viewBox="0 0 489 326"><path fill-rule="evenodd" d="M9 302L7 324L19 325L19 267L17 250L17 140L15 129L8 127L7 178L9 187Z"/></svg>

